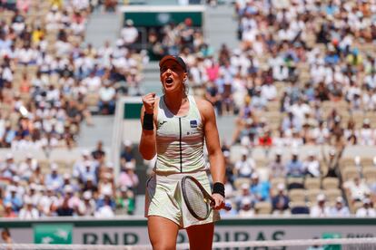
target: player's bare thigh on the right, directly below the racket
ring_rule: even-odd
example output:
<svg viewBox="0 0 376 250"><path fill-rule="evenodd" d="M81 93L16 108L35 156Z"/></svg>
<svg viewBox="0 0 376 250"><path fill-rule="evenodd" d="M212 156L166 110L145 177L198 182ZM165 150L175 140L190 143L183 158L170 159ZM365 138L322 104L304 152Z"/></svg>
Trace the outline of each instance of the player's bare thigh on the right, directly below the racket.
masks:
<svg viewBox="0 0 376 250"><path fill-rule="evenodd" d="M214 224L194 225L186 228L190 250L209 250L212 249Z"/></svg>

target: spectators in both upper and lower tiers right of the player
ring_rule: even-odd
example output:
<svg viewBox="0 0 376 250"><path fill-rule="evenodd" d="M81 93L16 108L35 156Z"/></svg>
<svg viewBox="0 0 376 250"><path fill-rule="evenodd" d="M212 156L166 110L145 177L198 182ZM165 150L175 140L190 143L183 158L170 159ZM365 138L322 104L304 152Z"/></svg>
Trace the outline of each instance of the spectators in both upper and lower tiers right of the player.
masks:
<svg viewBox="0 0 376 250"><path fill-rule="evenodd" d="M265 213L262 206L269 205L266 213L375 216L376 155L342 156L349 146L376 145L375 6L236 1L241 45L233 52L223 48L218 72L227 80L219 77L207 86L217 90L221 102L230 96L238 111L230 144L243 150L241 159L228 165L228 186L239 215L244 209L247 215ZM223 104L216 105L220 114L229 105ZM298 149L307 145L317 150L300 159ZM324 146L331 147L329 153ZM252 159L255 147L265 149L268 159L270 149L277 149L276 159ZM286 153L280 149L286 147L292 149L291 160L282 159ZM262 170L266 178L259 180ZM246 180L242 185L236 183L240 178ZM326 190L329 178L337 182ZM310 179L318 181L315 192ZM261 201L267 204L258 205Z"/></svg>

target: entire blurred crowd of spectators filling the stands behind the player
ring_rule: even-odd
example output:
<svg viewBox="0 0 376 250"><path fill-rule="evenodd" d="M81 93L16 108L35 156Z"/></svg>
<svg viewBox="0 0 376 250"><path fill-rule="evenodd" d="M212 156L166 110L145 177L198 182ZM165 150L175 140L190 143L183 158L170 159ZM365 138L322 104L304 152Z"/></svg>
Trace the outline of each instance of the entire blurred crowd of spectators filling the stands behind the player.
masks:
<svg viewBox="0 0 376 250"><path fill-rule="evenodd" d="M74 148L83 122L95 126L92 116L114 115L119 96L143 94L151 58L179 54L191 93L219 118L235 117L222 143L234 209L223 216L376 216L376 153L343 155L376 146L375 1L233 1L239 46L218 51L190 18L149 29L147 49L131 19L118 40L84 43L95 8L117 4L0 1L1 148ZM124 141L120 166L103 147L70 164L6 154L0 216L133 215L136 147Z"/></svg>

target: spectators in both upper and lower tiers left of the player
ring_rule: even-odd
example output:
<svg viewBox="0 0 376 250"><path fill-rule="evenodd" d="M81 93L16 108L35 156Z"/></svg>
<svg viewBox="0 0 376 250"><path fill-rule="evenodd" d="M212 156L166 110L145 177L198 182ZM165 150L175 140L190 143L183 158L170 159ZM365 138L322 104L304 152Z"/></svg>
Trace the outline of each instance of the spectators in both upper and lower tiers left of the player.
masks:
<svg viewBox="0 0 376 250"><path fill-rule="evenodd" d="M118 176L100 142L73 165L15 159L21 151L43 150L48 159L56 148L73 149L82 123L95 126L93 113L114 114L118 95L140 94L145 54L124 37L100 48L84 43L94 3L0 1L0 148L10 149L0 159L0 216L134 214L132 152Z"/></svg>

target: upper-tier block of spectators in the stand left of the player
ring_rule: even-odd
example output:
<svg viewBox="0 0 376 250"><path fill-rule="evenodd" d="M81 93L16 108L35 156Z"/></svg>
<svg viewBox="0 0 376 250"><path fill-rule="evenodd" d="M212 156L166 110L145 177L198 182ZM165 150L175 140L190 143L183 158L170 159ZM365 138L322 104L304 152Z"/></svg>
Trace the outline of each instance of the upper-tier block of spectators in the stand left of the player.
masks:
<svg viewBox="0 0 376 250"><path fill-rule="evenodd" d="M1 6L0 147L71 149L82 121L94 126L92 113L114 114L119 94L139 94L144 57L124 39L84 45L89 1L10 3Z"/></svg>

